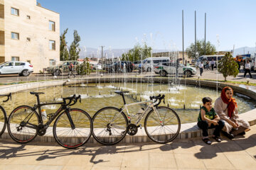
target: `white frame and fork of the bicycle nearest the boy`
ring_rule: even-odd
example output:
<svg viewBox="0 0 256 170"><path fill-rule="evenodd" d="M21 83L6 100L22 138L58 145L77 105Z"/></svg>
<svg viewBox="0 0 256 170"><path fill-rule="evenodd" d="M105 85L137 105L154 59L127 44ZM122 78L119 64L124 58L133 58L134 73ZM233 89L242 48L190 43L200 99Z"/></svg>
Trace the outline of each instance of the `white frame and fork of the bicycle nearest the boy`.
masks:
<svg viewBox="0 0 256 170"><path fill-rule="evenodd" d="M163 122L159 116L159 113L154 105L154 102L153 101L141 101L141 102L136 102L136 103L130 103L130 104L124 104L124 106L122 106L122 108L120 108L120 112L122 111L126 111L127 112L127 117L129 118L129 123L131 123L131 116L129 114L129 106L136 106L136 105L140 105L140 104L145 104L145 103L150 103L149 106L146 107L145 111L142 113L141 116L139 116L139 118L137 119L136 121L136 124L135 125L138 125L140 123L140 121L142 120L142 118L144 118L144 116L149 113L149 111L151 111L151 108L154 110L154 112L156 113L157 117L159 118L159 122L161 123L161 125L163 125ZM114 118L113 118L114 120Z"/></svg>

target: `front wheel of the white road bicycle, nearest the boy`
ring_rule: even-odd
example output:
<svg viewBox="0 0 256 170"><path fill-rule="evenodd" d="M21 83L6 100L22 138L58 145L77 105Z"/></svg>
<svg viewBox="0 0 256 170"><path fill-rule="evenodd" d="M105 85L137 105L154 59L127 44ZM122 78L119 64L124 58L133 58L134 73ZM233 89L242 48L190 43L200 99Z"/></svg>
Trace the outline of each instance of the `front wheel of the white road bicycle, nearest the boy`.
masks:
<svg viewBox="0 0 256 170"><path fill-rule="evenodd" d="M171 108L159 106L157 112L161 120L153 109L146 115L144 122L146 135L154 142L162 144L171 142L177 137L181 129L181 121L177 113Z"/></svg>

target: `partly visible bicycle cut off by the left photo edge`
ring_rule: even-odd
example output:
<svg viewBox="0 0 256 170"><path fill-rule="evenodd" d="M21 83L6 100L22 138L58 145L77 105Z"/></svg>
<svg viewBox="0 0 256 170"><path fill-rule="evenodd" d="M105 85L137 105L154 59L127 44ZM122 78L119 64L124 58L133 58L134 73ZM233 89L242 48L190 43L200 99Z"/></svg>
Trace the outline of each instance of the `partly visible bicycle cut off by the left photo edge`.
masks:
<svg viewBox="0 0 256 170"><path fill-rule="evenodd" d="M1 94L0 97L8 97L5 101L9 101L11 99L11 93L10 94ZM0 106L0 137L3 135L4 131L6 130L6 123L7 123L7 114L6 111L2 106Z"/></svg>

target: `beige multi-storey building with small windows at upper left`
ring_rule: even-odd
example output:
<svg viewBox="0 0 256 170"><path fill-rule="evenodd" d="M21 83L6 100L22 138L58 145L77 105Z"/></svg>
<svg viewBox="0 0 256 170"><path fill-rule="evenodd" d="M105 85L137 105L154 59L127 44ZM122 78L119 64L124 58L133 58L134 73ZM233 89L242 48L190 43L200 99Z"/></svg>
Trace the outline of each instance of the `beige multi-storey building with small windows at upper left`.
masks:
<svg viewBox="0 0 256 170"><path fill-rule="evenodd" d="M30 62L40 72L59 60L60 14L36 0L0 0L0 62Z"/></svg>

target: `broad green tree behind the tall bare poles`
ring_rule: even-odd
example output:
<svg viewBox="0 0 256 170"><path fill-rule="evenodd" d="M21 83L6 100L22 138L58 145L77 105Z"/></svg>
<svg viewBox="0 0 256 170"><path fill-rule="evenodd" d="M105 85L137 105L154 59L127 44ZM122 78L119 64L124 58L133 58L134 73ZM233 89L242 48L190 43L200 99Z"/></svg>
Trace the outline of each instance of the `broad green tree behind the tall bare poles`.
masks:
<svg viewBox="0 0 256 170"><path fill-rule="evenodd" d="M197 60L198 56L205 55L205 41L197 40L196 41L196 50L195 44L191 43L189 47L187 47L186 52L189 58ZM196 56L195 52L198 52L198 56ZM215 55L216 48L214 45L210 43L210 41L206 42L206 55Z"/></svg>

